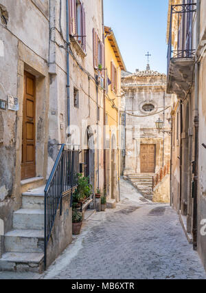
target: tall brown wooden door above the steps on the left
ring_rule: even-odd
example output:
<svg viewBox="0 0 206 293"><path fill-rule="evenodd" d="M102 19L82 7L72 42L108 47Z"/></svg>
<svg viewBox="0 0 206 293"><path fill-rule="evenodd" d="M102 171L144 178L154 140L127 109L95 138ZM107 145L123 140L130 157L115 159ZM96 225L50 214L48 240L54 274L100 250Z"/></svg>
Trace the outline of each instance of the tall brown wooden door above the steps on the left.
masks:
<svg viewBox="0 0 206 293"><path fill-rule="evenodd" d="M25 72L23 97L23 133L21 180L36 176L36 80Z"/></svg>

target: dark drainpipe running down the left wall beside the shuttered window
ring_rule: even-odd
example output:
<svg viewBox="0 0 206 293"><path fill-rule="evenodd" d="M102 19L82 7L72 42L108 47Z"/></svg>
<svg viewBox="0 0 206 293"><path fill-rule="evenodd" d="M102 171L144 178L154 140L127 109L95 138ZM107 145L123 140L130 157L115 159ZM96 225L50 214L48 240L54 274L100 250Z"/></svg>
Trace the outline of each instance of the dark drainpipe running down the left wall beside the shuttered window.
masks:
<svg viewBox="0 0 206 293"><path fill-rule="evenodd" d="M67 19L67 126L70 127L70 80L69 80L69 1L66 0ZM68 136L70 136L70 129Z"/></svg>

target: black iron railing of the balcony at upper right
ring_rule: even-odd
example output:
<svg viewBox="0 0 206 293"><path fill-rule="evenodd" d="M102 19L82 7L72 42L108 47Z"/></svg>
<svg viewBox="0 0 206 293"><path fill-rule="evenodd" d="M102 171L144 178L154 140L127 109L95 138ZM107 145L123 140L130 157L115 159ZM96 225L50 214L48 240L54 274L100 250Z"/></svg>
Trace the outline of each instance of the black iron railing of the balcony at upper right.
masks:
<svg viewBox="0 0 206 293"><path fill-rule="evenodd" d="M168 74L172 58L194 58L193 44L194 13L196 3L171 6L170 33L168 41ZM176 31L174 31L176 30Z"/></svg>

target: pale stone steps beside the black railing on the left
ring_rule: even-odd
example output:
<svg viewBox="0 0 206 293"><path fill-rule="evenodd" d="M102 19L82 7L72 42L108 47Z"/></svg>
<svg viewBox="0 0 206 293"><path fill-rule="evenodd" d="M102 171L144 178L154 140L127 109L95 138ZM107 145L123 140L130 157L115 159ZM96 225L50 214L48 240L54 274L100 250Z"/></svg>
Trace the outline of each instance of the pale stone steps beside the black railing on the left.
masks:
<svg viewBox="0 0 206 293"><path fill-rule="evenodd" d="M13 213L12 230L4 236L0 270L43 272L44 188L22 194L22 207Z"/></svg>

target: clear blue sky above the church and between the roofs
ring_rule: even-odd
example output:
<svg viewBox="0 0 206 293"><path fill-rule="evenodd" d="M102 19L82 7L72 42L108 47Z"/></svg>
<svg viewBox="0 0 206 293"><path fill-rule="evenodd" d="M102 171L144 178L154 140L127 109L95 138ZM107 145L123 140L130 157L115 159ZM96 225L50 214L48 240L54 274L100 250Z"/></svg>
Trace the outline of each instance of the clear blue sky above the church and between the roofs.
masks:
<svg viewBox="0 0 206 293"><path fill-rule="evenodd" d="M129 72L166 72L168 0L104 0L104 25L113 29Z"/></svg>

